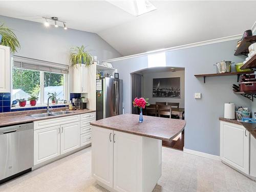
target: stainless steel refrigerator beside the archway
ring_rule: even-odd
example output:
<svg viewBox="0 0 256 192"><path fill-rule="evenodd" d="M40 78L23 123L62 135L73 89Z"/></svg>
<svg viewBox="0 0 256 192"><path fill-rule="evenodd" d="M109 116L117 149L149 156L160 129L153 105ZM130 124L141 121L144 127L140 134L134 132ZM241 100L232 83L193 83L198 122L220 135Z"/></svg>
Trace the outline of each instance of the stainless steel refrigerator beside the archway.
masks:
<svg viewBox="0 0 256 192"><path fill-rule="evenodd" d="M96 82L96 119L123 114L123 80L105 77Z"/></svg>

